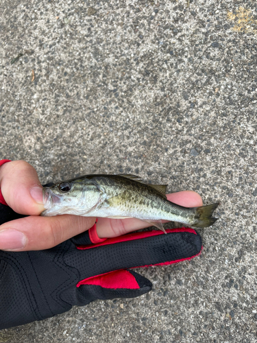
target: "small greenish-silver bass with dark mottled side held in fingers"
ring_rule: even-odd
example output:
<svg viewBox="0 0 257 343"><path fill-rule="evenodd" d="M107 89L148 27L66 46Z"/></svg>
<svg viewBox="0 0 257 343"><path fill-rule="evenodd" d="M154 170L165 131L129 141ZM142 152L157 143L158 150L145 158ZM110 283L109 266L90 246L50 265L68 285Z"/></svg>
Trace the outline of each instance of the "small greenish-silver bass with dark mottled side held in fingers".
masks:
<svg viewBox="0 0 257 343"><path fill-rule="evenodd" d="M162 220L204 228L217 220L219 203L183 207L167 200L167 185L151 185L130 174L91 174L43 187L42 216L137 218L164 233Z"/></svg>

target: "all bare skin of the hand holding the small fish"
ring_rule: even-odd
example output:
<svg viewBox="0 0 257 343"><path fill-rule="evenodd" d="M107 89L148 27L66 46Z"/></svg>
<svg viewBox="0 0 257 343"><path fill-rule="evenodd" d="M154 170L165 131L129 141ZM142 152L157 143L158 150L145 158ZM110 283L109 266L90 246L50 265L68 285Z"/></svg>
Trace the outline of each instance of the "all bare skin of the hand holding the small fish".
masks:
<svg viewBox="0 0 257 343"><path fill-rule="evenodd" d="M95 217L58 215L40 217L42 185L36 169L25 161L12 161L0 167L0 189L5 202L16 213L29 215L0 225L0 249L11 251L43 250L60 244L95 224ZM186 207L202 206L199 194L181 191L167 194L168 200ZM1 220L1 217L0 217ZM149 226L137 219L99 218L97 235L117 237Z"/></svg>

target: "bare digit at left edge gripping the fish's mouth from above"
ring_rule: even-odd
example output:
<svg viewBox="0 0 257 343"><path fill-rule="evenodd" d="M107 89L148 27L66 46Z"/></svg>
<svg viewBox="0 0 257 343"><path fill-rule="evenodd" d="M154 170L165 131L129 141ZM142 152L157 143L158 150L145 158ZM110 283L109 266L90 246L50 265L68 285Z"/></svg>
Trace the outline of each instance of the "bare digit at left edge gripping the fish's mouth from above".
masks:
<svg viewBox="0 0 257 343"><path fill-rule="evenodd" d="M42 186L36 169L25 161L12 161L0 167L0 189L7 202L16 213L40 215Z"/></svg>

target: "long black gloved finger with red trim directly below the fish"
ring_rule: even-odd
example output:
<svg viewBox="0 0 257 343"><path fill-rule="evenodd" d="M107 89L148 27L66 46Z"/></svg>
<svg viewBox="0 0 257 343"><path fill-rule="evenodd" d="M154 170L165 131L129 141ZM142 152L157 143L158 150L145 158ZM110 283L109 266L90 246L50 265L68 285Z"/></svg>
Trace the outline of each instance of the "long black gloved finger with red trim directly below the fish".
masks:
<svg viewBox="0 0 257 343"><path fill-rule="evenodd" d="M79 275L84 279L78 284L81 285L85 279L95 275L102 277L114 270L167 265L195 257L201 252L201 236L192 228L168 229L167 235L152 230L112 238L99 246L90 244L77 248L88 252L84 255L85 263L79 263ZM76 263L76 259L73 260ZM92 263L93 268L88 269L88 263ZM119 283L121 279L117 277Z"/></svg>

